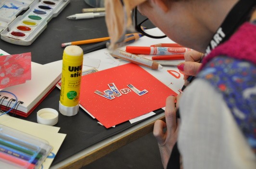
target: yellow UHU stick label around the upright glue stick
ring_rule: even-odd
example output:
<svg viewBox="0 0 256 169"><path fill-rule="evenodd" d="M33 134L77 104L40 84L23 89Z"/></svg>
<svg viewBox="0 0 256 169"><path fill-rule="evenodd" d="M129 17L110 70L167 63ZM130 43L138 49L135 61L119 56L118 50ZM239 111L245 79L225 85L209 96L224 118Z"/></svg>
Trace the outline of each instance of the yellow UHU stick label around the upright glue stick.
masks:
<svg viewBox="0 0 256 169"><path fill-rule="evenodd" d="M83 66L83 53L77 56L72 52L74 49L64 50L63 54L60 101L67 107L74 107L79 103Z"/></svg>

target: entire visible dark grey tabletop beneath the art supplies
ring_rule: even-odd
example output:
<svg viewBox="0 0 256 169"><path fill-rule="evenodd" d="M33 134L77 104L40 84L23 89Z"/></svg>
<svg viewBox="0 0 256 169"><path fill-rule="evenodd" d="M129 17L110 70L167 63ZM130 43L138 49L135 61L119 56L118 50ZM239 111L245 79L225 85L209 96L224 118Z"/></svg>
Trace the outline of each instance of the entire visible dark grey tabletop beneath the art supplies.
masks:
<svg viewBox="0 0 256 169"><path fill-rule="evenodd" d="M83 8L91 8L91 6L86 4L84 0L71 0L58 16L51 19L47 28L31 45L14 45L0 40L0 49L11 55L31 52L33 62L47 64L62 59L64 50L61 47L62 43L108 36L104 17L82 20L66 19L69 15L81 13ZM87 47L90 45L80 46ZM38 110L42 108L58 110L59 97L60 90L55 88L27 118L17 118L37 122L36 112ZM161 113L163 110L155 112ZM52 165L136 124L126 122L117 125L115 128L106 129L82 109L79 109L77 115L72 117L60 114L56 126L61 127L60 133L67 134L67 136Z"/></svg>

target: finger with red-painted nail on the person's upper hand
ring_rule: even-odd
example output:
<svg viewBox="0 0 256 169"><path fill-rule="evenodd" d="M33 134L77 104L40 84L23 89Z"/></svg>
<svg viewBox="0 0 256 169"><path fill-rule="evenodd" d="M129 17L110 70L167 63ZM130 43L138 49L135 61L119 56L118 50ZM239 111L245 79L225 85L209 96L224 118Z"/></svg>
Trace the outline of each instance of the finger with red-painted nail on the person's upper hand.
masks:
<svg viewBox="0 0 256 169"><path fill-rule="evenodd" d="M196 76L199 68L201 67L201 63L197 62L181 62L178 64L177 68L182 71L185 75L188 76Z"/></svg>

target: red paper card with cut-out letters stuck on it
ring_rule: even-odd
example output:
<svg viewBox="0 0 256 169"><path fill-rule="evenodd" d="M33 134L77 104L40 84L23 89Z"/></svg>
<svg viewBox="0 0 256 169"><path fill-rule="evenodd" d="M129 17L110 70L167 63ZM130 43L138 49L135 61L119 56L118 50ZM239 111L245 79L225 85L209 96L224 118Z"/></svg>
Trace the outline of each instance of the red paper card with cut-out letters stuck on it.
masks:
<svg viewBox="0 0 256 169"><path fill-rule="evenodd" d="M119 91L132 84L138 90L148 92L140 96L131 90L112 100L94 93L96 90L102 93L110 90L110 83L114 83ZM171 94L177 95L140 66L128 63L82 76L79 99L90 114L109 128L165 107L166 98Z"/></svg>

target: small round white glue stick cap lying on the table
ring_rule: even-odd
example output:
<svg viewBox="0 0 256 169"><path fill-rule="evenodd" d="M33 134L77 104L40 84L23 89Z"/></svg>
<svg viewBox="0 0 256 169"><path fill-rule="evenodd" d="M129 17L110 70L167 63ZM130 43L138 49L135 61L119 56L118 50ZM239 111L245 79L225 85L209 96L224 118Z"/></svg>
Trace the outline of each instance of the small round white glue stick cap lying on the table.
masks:
<svg viewBox="0 0 256 169"><path fill-rule="evenodd" d="M37 112L37 121L39 124L55 125L58 123L59 113L55 109L45 108Z"/></svg>

